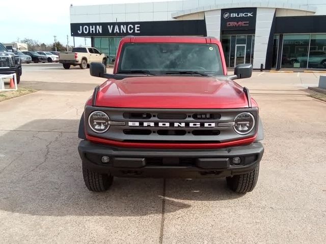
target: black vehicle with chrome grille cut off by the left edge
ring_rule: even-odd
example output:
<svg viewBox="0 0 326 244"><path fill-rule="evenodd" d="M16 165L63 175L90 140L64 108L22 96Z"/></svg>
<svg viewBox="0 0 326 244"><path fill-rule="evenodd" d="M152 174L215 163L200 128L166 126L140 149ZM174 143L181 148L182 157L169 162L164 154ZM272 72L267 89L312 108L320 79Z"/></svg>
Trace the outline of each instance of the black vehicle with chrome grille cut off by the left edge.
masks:
<svg viewBox="0 0 326 244"><path fill-rule="evenodd" d="M9 52L7 48L0 43L0 74L9 75L16 73L17 84L20 82L21 62L18 55Z"/></svg>

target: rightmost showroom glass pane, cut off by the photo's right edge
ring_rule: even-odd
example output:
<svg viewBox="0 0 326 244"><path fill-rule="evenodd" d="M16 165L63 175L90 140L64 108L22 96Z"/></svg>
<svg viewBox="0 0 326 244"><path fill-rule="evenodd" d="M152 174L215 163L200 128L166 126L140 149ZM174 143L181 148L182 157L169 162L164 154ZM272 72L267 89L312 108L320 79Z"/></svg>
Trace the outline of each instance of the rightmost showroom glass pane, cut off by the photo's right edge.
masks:
<svg viewBox="0 0 326 244"><path fill-rule="evenodd" d="M326 35L311 35L308 59L309 69L326 69Z"/></svg>

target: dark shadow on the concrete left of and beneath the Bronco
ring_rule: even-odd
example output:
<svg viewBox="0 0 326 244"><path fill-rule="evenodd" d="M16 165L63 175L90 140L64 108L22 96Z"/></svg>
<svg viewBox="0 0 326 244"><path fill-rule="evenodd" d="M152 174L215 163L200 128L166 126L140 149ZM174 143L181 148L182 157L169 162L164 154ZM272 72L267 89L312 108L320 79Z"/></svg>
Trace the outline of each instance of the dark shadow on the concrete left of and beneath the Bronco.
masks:
<svg viewBox="0 0 326 244"><path fill-rule="evenodd" d="M0 136L0 209L37 216L146 216L161 214L163 179L115 178L110 190L84 185L77 151L78 120L38 119ZM1 132L1 130L0 130ZM168 211L191 207L180 200L241 197L224 179L167 179ZM172 210L171 210L172 209Z"/></svg>

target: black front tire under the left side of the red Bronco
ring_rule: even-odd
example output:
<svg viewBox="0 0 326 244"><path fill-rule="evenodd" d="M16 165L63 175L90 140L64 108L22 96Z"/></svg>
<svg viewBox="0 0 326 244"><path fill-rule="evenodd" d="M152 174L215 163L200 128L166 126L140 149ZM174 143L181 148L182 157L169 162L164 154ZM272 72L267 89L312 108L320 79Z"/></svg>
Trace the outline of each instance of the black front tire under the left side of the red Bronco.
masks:
<svg viewBox="0 0 326 244"><path fill-rule="evenodd" d="M99 174L88 169L83 164L83 176L85 185L92 192L105 192L109 189L113 182L113 176L107 174Z"/></svg>

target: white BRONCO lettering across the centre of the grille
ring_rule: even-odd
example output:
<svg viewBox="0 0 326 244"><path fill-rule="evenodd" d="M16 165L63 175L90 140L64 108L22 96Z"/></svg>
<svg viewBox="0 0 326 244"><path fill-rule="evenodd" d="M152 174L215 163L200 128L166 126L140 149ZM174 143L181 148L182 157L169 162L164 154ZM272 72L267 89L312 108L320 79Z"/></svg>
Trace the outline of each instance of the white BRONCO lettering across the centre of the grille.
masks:
<svg viewBox="0 0 326 244"><path fill-rule="evenodd" d="M215 123L170 123L170 122L133 122L129 121L128 126L133 127L215 127Z"/></svg>

